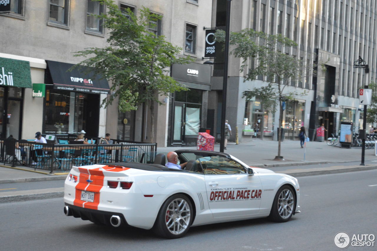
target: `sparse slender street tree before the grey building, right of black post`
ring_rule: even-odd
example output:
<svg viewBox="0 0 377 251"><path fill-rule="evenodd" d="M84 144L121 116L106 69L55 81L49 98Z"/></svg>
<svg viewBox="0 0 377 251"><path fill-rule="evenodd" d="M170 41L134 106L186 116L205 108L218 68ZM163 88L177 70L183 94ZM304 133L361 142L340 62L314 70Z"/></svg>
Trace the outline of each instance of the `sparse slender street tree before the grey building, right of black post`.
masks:
<svg viewBox="0 0 377 251"><path fill-rule="evenodd" d="M216 40L225 41L225 32L216 31ZM284 102L294 100L297 95L306 95L306 91L288 91L290 83L301 81L304 77L315 74L313 65L307 65L294 55L286 54L286 48L297 46L296 42L280 34L268 35L253 29L231 32L231 54L242 59L241 72L246 72L244 82L254 80L258 75L266 77L267 85L253 88L243 94L246 99L257 97L263 102L265 110L275 111L279 104L279 130L282 131ZM254 63L249 63L250 60ZM281 137L278 133L276 160L281 160Z"/></svg>

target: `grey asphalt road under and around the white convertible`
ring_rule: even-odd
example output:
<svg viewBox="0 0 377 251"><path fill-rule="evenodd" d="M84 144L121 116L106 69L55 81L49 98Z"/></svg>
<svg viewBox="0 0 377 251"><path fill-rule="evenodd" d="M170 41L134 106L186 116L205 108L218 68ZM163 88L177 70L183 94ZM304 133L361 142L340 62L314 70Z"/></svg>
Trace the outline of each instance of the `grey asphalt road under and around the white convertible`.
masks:
<svg viewBox="0 0 377 251"><path fill-rule="evenodd" d="M198 226L181 239L98 226L66 217L63 200L0 204L2 250L339 250L336 233L377 236L377 170L298 178L301 211L286 223L267 219ZM377 240L376 240L377 241ZM375 250L348 247L346 250Z"/></svg>

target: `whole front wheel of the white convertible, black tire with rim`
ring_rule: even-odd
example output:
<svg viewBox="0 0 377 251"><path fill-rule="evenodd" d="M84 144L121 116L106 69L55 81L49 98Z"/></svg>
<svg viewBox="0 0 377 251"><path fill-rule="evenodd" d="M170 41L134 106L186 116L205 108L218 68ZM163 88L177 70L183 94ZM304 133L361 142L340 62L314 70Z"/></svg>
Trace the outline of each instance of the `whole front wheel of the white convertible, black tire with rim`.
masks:
<svg viewBox="0 0 377 251"><path fill-rule="evenodd" d="M288 191L290 191L290 194ZM285 197L285 194L288 194L289 196ZM283 207L281 208L280 206ZM296 194L294 193L292 187L288 185L280 187L279 190L277 190L274 201L272 203L270 219L274 222L287 222L289 219L291 219L295 210Z"/></svg>

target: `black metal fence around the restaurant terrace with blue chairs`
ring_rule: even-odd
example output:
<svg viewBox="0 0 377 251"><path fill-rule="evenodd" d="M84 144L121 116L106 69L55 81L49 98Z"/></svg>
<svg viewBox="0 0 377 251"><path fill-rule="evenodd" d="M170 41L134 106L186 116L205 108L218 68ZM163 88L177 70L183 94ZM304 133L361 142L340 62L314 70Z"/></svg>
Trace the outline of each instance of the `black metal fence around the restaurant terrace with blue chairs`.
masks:
<svg viewBox="0 0 377 251"><path fill-rule="evenodd" d="M94 139L94 138L93 138ZM70 170L72 165L132 162L146 152L155 152L156 143L130 143L117 140L117 144L43 144L26 140L3 139L0 143L0 162L36 169Z"/></svg>

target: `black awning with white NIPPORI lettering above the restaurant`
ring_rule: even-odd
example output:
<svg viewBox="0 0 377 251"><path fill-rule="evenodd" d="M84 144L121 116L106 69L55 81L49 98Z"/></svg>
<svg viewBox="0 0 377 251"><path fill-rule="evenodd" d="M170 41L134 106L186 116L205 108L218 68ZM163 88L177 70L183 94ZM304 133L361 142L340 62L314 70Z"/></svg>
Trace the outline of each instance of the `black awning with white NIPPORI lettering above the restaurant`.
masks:
<svg viewBox="0 0 377 251"><path fill-rule="evenodd" d="M68 71L72 64L46 60L54 89L94 94L109 94L110 88L106 78L95 74L91 67L81 66Z"/></svg>

